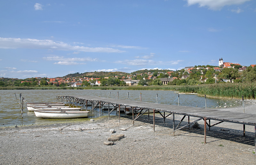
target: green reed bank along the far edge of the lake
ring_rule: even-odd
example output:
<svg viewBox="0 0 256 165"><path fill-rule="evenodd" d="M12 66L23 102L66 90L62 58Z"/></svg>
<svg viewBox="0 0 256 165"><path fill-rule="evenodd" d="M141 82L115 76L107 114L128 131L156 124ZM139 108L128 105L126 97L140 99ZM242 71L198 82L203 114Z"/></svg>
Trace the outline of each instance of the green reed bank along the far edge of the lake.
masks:
<svg viewBox="0 0 256 165"><path fill-rule="evenodd" d="M95 87L0 87L0 90L177 90L182 93L197 93L207 97L256 99L256 83L219 83L202 85L164 85L164 86L95 86Z"/></svg>

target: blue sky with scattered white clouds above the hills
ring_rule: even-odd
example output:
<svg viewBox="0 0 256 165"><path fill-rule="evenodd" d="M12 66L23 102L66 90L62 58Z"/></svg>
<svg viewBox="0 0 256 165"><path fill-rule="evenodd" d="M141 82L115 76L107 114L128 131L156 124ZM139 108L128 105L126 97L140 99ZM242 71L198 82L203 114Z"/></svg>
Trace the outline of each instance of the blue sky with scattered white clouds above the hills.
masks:
<svg viewBox="0 0 256 165"><path fill-rule="evenodd" d="M255 0L0 4L0 77L256 64Z"/></svg>

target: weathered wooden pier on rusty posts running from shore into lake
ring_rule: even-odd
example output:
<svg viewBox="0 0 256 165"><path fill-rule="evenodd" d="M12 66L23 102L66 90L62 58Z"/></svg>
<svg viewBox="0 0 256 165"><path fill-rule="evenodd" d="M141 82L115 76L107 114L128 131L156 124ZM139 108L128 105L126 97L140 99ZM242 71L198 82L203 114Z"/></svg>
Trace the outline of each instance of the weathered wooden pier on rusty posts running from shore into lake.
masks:
<svg viewBox="0 0 256 165"><path fill-rule="evenodd" d="M172 126L173 126L173 135L174 132L190 126L199 120L204 120L204 143L206 143L206 126L209 127L209 130L212 126L216 126L222 122L231 122L237 124L244 125L244 136L245 136L245 125L254 126L255 136L254 136L254 145L255 145L255 152L256 152L256 114L249 114L249 113L239 113L239 112L230 112L230 111L222 111L217 109L204 109L198 107L188 107L188 106L180 106L180 105L170 105L170 104L156 104L156 103L148 103L148 102L141 102L141 101L131 101L131 100L122 100L122 99L111 99L111 98L104 98L104 97L93 97L93 96L57 96L56 101L61 102L73 102L77 104L77 102L83 103L82 106L86 105L88 102L93 102L95 108L97 105L102 104L111 104L115 105L113 109L108 108L108 117L109 114L116 108L119 110L119 122L120 122L120 106L125 108L132 108L132 110L136 110L138 114L135 114L135 118L133 118L133 111L132 111L132 120L133 126L134 121L139 118L145 112L149 112L149 110L153 110L153 125L155 131L155 113L160 113L161 116L165 119L166 117L172 115ZM109 106L108 106L109 107ZM167 115L165 114L167 113ZM179 124L175 127L175 114L183 115L183 118L180 120ZM148 113L149 115L149 113ZM184 120L185 117L188 117L188 122L185 126L180 126L181 122ZM193 122L189 122L189 117L196 117L197 120ZM215 124L211 125L211 120L218 121ZM179 127L180 126L180 127Z"/></svg>

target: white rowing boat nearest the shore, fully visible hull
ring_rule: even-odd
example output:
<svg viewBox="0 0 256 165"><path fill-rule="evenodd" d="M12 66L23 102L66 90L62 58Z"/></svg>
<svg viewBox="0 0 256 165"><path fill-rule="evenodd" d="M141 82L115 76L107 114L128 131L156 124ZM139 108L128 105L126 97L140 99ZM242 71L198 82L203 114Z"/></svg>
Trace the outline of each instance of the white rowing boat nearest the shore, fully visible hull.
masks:
<svg viewBox="0 0 256 165"><path fill-rule="evenodd" d="M34 111L38 118L87 118L89 111Z"/></svg>

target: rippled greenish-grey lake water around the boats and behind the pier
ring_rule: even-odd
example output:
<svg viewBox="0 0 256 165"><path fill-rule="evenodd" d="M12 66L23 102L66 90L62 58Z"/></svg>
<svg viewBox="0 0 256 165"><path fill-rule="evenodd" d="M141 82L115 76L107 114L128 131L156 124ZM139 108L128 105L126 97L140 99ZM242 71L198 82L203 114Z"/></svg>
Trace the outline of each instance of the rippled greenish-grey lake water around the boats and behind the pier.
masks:
<svg viewBox="0 0 256 165"><path fill-rule="evenodd" d="M89 113L88 118L79 119L45 119L37 118L34 112L28 111L24 104L23 118L21 117L19 96L22 96L27 102L56 102L56 96L66 95L92 95L98 97L109 97L113 99L129 99L139 101L140 93L143 102L156 103L156 95L158 96L158 104L173 104L178 105L178 93L165 90L0 90L0 126L20 126L31 124L49 124L67 121L83 121L92 117L99 117L99 108ZM15 97L18 99L18 103ZM206 98L207 108L216 108L217 106L227 105L242 106L241 100L234 99L214 99ZM225 104L226 103L226 104ZM205 107L205 98L191 94L180 94L180 105L192 107ZM88 107L90 108L90 107ZM115 115L116 112L113 112ZM108 111L102 111L101 115L108 115Z"/></svg>

